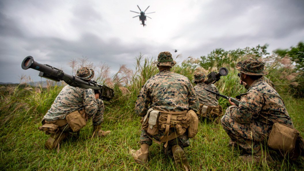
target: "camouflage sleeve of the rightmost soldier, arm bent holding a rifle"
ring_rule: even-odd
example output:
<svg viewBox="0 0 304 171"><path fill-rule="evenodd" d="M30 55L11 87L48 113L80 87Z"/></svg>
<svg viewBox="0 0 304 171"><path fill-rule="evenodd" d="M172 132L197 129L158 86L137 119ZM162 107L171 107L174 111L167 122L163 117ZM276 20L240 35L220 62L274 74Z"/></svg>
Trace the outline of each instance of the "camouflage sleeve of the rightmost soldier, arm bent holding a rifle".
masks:
<svg viewBox="0 0 304 171"><path fill-rule="evenodd" d="M257 91L250 91L241 96L239 107L230 108L231 117L236 122L247 124L258 116L264 104L264 98Z"/></svg>

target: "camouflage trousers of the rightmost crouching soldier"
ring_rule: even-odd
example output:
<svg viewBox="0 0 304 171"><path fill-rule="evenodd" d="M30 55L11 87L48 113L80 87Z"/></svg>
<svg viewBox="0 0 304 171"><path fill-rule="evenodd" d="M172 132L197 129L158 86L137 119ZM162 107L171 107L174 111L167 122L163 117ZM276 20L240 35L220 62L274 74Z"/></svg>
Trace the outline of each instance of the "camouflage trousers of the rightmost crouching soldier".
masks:
<svg viewBox="0 0 304 171"><path fill-rule="evenodd" d="M248 124L237 123L230 108L227 108L221 119L221 124L233 143L243 148L247 153L257 153L261 145L266 144L269 127L261 122L253 121Z"/></svg>

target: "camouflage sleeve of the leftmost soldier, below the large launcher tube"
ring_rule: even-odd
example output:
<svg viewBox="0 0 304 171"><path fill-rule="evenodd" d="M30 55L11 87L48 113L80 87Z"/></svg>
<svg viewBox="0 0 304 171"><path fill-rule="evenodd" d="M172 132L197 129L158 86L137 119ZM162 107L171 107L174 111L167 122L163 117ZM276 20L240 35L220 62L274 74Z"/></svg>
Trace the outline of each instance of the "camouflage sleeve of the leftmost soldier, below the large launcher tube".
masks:
<svg viewBox="0 0 304 171"><path fill-rule="evenodd" d="M89 117L95 115L98 110L98 104L95 99L95 93L92 89L85 89L83 93L83 106L85 106L85 112Z"/></svg>

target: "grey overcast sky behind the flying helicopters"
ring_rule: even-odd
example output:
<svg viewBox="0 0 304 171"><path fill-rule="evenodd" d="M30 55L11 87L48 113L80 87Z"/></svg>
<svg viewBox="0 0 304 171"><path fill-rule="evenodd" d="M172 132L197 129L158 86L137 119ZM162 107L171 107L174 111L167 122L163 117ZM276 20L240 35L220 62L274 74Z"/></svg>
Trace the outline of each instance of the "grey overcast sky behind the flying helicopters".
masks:
<svg viewBox="0 0 304 171"><path fill-rule="evenodd" d="M150 5L147 26L132 18ZM61 68L71 59L105 62L116 73L133 68L141 52L161 51L199 58L215 48L231 50L269 44L268 51L304 41L303 0L0 0L0 82L38 71L22 70L26 56ZM178 49L174 53L174 49Z"/></svg>

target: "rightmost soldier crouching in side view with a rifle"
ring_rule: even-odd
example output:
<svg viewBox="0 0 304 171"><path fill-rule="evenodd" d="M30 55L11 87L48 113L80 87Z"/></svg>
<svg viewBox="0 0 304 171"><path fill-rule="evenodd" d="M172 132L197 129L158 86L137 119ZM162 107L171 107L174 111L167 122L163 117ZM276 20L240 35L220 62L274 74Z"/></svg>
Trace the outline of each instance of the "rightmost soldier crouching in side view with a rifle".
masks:
<svg viewBox="0 0 304 171"><path fill-rule="evenodd" d="M230 145L239 145L247 152L240 159L256 164L272 163L268 147L291 159L304 155L303 139L293 128L283 99L261 79L266 74L264 63L247 59L236 68L240 71L240 83L248 91L241 94L238 106L229 99L232 106L226 109L221 123L231 138Z"/></svg>

